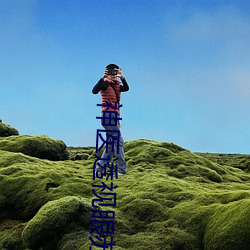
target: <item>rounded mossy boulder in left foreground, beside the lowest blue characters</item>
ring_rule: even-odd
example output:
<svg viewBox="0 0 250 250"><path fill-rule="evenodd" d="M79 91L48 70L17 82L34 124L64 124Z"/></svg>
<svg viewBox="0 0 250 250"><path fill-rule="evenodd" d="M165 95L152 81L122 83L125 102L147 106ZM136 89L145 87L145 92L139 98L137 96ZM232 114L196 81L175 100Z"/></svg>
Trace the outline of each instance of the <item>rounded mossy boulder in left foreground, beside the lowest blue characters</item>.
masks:
<svg viewBox="0 0 250 250"><path fill-rule="evenodd" d="M46 203L26 225L22 238L29 248L38 248L50 243L50 248L61 238L66 225L73 221L81 222L89 228L91 207L80 202L76 197L64 197ZM82 214L81 214L82 213ZM83 220L79 218L83 218Z"/></svg>

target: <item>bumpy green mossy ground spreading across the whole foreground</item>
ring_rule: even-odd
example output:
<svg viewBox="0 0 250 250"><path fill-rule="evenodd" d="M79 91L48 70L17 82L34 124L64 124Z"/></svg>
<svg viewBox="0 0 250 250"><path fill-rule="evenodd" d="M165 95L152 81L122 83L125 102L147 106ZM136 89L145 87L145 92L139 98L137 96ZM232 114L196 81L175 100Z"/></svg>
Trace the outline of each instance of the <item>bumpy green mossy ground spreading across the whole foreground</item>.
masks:
<svg viewBox="0 0 250 250"><path fill-rule="evenodd" d="M57 162L0 150L0 249L89 249L95 152L68 150ZM248 168L173 143L130 141L125 152L114 249L250 249Z"/></svg>

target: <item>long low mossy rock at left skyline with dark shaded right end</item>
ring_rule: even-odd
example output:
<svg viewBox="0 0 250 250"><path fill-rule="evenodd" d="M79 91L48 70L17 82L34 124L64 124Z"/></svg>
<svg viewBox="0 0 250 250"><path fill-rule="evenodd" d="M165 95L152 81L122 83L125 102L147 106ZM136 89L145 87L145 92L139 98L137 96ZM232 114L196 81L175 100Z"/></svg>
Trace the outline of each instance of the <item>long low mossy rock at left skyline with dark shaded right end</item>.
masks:
<svg viewBox="0 0 250 250"><path fill-rule="evenodd" d="M21 152L29 156L52 161L69 158L67 147L63 141L44 135L0 138L0 149L10 152Z"/></svg>

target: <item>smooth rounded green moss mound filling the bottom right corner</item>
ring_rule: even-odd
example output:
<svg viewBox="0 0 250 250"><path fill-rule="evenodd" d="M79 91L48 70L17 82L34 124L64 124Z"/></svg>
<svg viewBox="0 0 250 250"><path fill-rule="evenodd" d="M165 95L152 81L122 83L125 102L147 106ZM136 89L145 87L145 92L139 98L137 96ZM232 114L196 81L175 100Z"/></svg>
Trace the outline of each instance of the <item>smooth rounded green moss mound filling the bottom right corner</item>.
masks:
<svg viewBox="0 0 250 250"><path fill-rule="evenodd" d="M250 246L250 199L221 205L209 218L205 249L247 250Z"/></svg>

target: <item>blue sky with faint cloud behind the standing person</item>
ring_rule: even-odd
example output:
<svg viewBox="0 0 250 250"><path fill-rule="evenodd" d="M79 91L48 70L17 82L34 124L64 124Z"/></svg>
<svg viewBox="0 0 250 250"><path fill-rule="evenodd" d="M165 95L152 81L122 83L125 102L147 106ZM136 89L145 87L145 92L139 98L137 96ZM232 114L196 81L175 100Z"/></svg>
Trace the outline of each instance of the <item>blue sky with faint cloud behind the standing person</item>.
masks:
<svg viewBox="0 0 250 250"><path fill-rule="evenodd" d="M248 0L1 0L0 119L94 146L92 88L115 63L125 141L249 154L249 41Z"/></svg>

